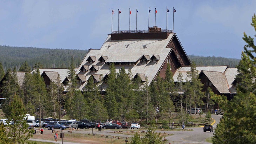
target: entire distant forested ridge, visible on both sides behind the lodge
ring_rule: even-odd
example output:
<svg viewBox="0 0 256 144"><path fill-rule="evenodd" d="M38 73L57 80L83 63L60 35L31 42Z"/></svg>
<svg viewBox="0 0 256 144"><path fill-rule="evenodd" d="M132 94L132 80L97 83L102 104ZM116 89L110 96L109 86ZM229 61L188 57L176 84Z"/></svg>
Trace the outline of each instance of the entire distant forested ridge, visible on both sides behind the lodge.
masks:
<svg viewBox="0 0 256 144"><path fill-rule="evenodd" d="M0 46L0 62L5 71L14 67L19 69L24 62L28 63L31 70L38 62L43 65L43 68L68 68L72 57L74 57L75 67L78 67L87 52L88 50ZM239 59L215 56L188 55L188 57L197 66L228 65L235 67L240 61Z"/></svg>

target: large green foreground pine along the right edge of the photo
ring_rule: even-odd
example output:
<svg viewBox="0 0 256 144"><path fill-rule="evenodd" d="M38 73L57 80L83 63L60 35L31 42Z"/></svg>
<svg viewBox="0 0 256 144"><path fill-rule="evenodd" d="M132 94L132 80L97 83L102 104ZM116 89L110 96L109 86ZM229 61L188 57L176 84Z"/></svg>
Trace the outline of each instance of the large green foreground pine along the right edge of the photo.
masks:
<svg viewBox="0 0 256 144"><path fill-rule="evenodd" d="M256 31L256 15L252 16L251 25ZM256 37L256 35L255 35ZM243 40L247 43L237 66L237 94L231 101L218 96L225 113L217 124L214 133L214 144L245 144L256 143L256 46L254 39L244 33ZM216 96L217 97L217 96Z"/></svg>

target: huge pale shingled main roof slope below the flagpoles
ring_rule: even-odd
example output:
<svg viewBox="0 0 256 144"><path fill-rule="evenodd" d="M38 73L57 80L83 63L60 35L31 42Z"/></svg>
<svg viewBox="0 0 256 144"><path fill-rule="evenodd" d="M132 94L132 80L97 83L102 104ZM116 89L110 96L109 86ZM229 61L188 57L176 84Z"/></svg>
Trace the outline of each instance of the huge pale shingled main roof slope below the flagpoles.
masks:
<svg viewBox="0 0 256 144"><path fill-rule="evenodd" d="M135 76L137 73L145 74L145 77L148 77L148 81L150 83L163 66L167 56L170 54L172 48L167 48L167 46L174 36L176 36L175 33L170 33L168 34L167 39L111 40L111 35L108 35L101 49L89 50L80 66L78 67L78 71L76 71L76 73L79 73L80 68L86 64L86 60L89 58L89 56L95 56L97 60L99 60L102 56L107 56L108 59L105 61L105 63L102 64L99 61L95 61L91 64L94 67L99 67L99 70L97 70L94 74L108 74L108 63L110 62L136 62L133 65L123 63L122 65L115 65L116 72L124 67L126 73L128 73L128 70L130 69L133 76ZM157 59L159 59L157 63L153 63L151 61L142 63L138 61L143 55L148 55L150 59L153 54L155 57L157 57ZM90 72L88 71L86 75L90 75Z"/></svg>

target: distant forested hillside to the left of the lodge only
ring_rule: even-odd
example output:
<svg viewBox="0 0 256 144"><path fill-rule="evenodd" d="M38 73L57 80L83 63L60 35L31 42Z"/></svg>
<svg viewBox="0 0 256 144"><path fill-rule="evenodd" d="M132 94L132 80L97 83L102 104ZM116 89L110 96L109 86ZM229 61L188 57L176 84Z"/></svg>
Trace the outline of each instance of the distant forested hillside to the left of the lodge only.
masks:
<svg viewBox="0 0 256 144"><path fill-rule="evenodd" d="M25 61L31 69L38 62L43 68L68 68L74 57L75 67L78 67L87 52L88 50L0 46L0 62L5 71L14 67L19 69Z"/></svg>

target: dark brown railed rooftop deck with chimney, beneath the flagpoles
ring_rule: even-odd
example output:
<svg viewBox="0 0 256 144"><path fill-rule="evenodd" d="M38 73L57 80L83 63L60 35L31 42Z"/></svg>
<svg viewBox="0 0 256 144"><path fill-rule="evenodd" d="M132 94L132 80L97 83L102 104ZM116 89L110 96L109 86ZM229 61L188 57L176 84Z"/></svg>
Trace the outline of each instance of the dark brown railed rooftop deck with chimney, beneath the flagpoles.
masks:
<svg viewBox="0 0 256 144"><path fill-rule="evenodd" d="M126 39L167 39L173 30L150 27L149 30L116 30L111 33L111 40Z"/></svg>

